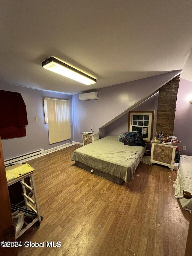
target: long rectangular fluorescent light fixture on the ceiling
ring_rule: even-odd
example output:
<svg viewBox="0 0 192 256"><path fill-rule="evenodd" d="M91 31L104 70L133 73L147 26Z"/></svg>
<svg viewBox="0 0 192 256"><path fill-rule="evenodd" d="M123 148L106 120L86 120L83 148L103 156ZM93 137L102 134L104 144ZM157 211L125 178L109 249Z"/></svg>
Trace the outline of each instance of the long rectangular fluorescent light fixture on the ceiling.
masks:
<svg viewBox="0 0 192 256"><path fill-rule="evenodd" d="M49 59L43 61L42 67L86 85L94 84L97 82L95 78L84 74L76 68L73 68L54 57L50 57Z"/></svg>

